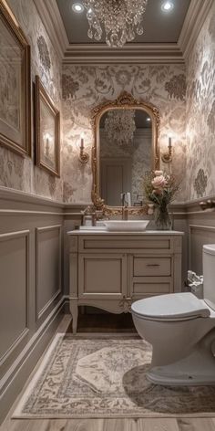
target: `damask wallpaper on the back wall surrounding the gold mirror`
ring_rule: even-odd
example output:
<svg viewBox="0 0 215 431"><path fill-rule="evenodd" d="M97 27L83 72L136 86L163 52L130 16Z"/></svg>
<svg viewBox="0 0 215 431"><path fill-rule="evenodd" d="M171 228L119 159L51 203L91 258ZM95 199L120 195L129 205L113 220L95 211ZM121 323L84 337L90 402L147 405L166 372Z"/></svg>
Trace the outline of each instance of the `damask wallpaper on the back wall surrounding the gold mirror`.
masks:
<svg viewBox="0 0 215 431"><path fill-rule="evenodd" d="M84 134L87 152L93 142L90 111L105 100L115 100L127 90L137 100L149 101L160 111L159 144L167 151L168 134L174 144L173 173L185 175L185 68L183 65L64 65L63 96L63 199L69 203L90 201L92 176L90 163L78 162L80 135ZM165 168L168 165L165 165ZM182 183L181 190L184 189ZM182 192L178 200L183 200Z"/></svg>

